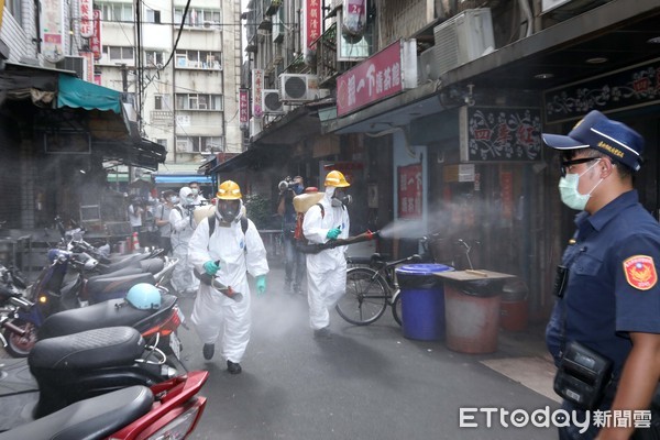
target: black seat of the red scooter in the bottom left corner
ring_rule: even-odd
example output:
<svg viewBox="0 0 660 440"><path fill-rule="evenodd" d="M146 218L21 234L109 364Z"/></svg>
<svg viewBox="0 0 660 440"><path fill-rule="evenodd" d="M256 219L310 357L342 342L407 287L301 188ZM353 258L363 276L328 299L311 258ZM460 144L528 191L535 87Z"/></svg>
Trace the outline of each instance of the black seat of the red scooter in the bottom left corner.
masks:
<svg viewBox="0 0 660 440"><path fill-rule="evenodd" d="M0 433L0 440L101 439L147 414L154 403L150 388L130 386L67 406L33 422Z"/></svg>

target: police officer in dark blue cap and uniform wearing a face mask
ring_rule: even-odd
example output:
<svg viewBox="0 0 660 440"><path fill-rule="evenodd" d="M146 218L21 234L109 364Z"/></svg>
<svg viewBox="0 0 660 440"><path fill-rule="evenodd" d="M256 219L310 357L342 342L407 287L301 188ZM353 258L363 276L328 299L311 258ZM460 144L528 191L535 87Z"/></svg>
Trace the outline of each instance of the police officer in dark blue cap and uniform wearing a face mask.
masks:
<svg viewBox="0 0 660 440"><path fill-rule="evenodd" d="M543 134L543 141L561 152L561 200L581 211L558 271L546 342L558 365L569 346L579 350L574 342L613 364L613 381L592 411L563 393L563 408L592 424L582 433L561 427L560 439L628 439L632 414L649 408L660 380L660 226L632 185L644 139L594 110L568 136ZM601 429L593 409L629 413L618 428L610 417Z"/></svg>

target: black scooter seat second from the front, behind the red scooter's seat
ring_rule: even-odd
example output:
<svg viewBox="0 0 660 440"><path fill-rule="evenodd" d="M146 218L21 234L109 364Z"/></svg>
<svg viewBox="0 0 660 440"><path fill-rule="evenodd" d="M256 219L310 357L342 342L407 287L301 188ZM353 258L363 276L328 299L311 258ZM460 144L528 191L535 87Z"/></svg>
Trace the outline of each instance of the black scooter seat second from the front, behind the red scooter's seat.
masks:
<svg viewBox="0 0 660 440"><path fill-rule="evenodd" d="M28 356L30 371L89 370L132 364L144 351L144 339L131 327L107 327L37 341ZM41 384L40 384L41 386Z"/></svg>

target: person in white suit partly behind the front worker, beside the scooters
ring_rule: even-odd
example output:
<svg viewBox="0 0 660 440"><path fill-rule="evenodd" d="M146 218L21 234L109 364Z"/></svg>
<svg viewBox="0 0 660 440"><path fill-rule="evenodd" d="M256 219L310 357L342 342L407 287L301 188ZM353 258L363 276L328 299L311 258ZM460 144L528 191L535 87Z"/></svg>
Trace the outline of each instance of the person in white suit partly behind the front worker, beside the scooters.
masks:
<svg viewBox="0 0 660 440"><path fill-rule="evenodd" d="M172 224L172 256L178 263L172 272L172 287L182 296L194 296L199 288L199 279L193 274L193 266L188 262L188 242L197 227L193 216L193 190L187 186L179 190L179 201L169 212Z"/></svg>

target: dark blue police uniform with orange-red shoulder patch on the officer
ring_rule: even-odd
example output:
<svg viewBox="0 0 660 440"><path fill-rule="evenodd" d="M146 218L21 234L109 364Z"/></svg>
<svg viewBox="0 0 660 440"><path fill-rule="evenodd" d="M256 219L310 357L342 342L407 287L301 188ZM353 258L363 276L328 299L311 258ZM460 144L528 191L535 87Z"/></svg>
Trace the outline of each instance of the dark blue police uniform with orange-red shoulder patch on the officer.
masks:
<svg viewBox="0 0 660 440"><path fill-rule="evenodd" d="M546 342L557 364L563 344L583 343L614 362L618 380L631 349L627 333L660 333L660 224L639 204L636 190L593 216L581 212L575 224L562 257L568 284L552 311ZM614 389L608 394L603 408L612 404ZM564 409L575 409L566 404Z"/></svg>

